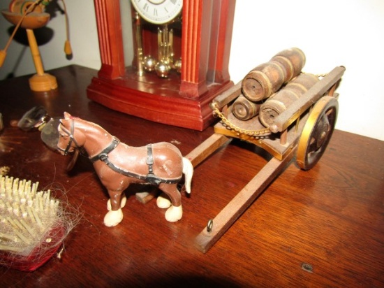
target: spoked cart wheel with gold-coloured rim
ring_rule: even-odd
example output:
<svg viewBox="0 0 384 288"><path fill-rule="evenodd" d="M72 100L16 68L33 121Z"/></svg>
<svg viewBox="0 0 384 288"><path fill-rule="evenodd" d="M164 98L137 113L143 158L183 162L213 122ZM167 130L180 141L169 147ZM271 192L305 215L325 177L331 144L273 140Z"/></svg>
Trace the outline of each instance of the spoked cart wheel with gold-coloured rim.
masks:
<svg viewBox="0 0 384 288"><path fill-rule="evenodd" d="M316 165L330 142L337 119L339 103L332 96L323 96L313 106L304 125L297 147L297 165L309 170Z"/></svg>

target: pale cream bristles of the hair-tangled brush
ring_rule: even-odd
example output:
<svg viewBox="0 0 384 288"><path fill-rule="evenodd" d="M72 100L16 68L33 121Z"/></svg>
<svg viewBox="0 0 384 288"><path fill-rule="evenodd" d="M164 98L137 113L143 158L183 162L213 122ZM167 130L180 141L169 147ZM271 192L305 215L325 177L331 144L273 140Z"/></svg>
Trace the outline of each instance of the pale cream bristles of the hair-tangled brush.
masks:
<svg viewBox="0 0 384 288"><path fill-rule="evenodd" d="M40 243L50 243L57 225L59 201L50 190L38 192L38 182L0 175L0 250L29 255Z"/></svg>

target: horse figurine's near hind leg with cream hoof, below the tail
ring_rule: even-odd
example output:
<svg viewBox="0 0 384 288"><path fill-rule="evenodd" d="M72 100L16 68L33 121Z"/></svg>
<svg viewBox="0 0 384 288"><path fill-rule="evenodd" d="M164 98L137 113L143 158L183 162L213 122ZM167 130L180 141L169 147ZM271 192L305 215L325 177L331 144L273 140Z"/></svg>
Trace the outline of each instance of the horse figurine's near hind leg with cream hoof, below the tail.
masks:
<svg viewBox="0 0 384 288"><path fill-rule="evenodd" d="M172 205L170 205L168 210L165 212L165 219L168 222L177 222L179 219L182 219L182 194L180 194L177 189L177 184L162 183L158 188L170 197L170 202L172 203Z"/></svg>

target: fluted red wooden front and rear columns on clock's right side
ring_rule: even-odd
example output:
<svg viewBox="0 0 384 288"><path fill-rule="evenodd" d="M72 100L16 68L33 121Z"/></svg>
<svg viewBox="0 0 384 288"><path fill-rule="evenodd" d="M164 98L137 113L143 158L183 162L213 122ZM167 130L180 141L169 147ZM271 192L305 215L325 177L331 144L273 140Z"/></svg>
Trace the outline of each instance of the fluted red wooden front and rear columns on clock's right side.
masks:
<svg viewBox="0 0 384 288"><path fill-rule="evenodd" d="M235 0L184 0L182 79L179 94L199 99L207 92L207 73L215 83L230 80L228 62Z"/></svg>

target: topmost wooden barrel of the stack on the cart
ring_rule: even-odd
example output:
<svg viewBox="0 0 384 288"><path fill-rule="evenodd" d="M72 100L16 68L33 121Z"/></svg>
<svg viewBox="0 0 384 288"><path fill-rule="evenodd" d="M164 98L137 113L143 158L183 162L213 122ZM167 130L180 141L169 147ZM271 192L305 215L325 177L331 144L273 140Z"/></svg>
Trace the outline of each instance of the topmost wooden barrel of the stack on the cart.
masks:
<svg viewBox="0 0 384 288"><path fill-rule="evenodd" d="M242 80L242 92L251 101L268 98L300 73L305 55L298 48L277 53L272 59L251 70Z"/></svg>

